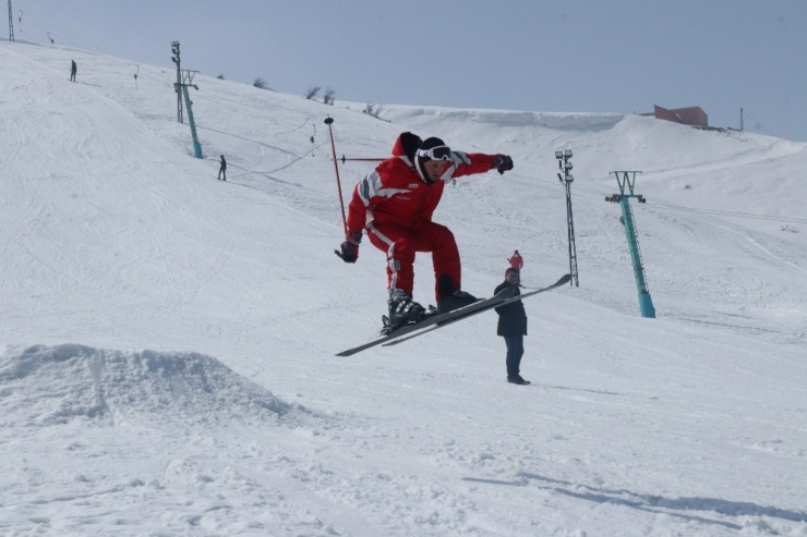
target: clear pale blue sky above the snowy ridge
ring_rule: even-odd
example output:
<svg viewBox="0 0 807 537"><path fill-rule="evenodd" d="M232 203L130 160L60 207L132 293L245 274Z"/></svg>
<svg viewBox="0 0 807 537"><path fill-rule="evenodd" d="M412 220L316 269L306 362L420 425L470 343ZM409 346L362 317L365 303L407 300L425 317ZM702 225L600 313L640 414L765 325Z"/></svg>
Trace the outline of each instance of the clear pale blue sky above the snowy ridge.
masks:
<svg viewBox="0 0 807 537"><path fill-rule="evenodd" d="M807 142L803 0L12 0L16 40L376 105L545 112L700 106ZM21 15L22 11L22 15ZM22 16L22 23L19 19ZM5 37L7 32L0 33ZM81 69L81 68L80 68Z"/></svg>

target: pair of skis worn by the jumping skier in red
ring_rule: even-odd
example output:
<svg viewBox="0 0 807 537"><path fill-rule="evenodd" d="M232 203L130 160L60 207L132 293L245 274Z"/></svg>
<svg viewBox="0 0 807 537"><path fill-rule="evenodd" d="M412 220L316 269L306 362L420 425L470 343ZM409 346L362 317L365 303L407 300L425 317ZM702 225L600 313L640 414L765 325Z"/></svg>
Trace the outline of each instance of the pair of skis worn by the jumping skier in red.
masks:
<svg viewBox="0 0 807 537"><path fill-rule="evenodd" d="M513 302L522 301L527 298L528 296L533 296L533 295L550 291L552 289L559 288L561 285L565 285L566 283L568 283L570 280L571 280L571 276L566 274L559 280L557 280L555 283L553 283L552 285L528 291L527 293L521 293L520 295L517 295L517 296L513 296L513 291L510 289L505 289L504 291L497 293L494 296L491 296L490 298L474 302L473 304L469 304L468 306L460 307L458 309L455 309L454 312L448 312L447 314L429 315L424 319L418 322L414 322L411 325L405 325L398 328L397 330L394 330L385 334L381 334L377 338L373 338L372 340L365 343L362 343L361 345L353 346L351 349L342 351L338 353L337 356L351 356L356 353L365 351L376 345L383 345L383 346L397 345L398 343L402 343L407 340L417 338L418 335L422 335L426 332L431 332L438 328L453 325L454 322L457 322L459 320L473 317L474 315L481 314L483 312L487 312L489 309L493 309L499 306L506 306L507 304L510 304Z"/></svg>

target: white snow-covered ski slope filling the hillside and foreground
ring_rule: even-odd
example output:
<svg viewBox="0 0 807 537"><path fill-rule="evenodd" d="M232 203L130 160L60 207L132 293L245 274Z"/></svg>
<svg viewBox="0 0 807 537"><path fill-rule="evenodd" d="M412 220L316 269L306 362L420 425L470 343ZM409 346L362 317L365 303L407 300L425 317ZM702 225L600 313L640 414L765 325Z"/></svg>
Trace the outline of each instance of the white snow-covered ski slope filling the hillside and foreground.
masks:
<svg viewBox="0 0 807 537"><path fill-rule="evenodd" d="M132 61L19 42L0 65L0 535L807 536L806 144L626 114L375 119L198 75L200 160L171 70L135 88ZM513 156L435 213L477 295L514 249L527 286L568 271L554 151L574 150L580 286L525 303L531 386L505 382L494 313L335 356L376 333L386 276L369 241L333 253L326 115L340 157L409 130ZM339 163L346 203L373 166ZM615 170L643 172L655 319ZM433 303L429 255L415 270Z"/></svg>

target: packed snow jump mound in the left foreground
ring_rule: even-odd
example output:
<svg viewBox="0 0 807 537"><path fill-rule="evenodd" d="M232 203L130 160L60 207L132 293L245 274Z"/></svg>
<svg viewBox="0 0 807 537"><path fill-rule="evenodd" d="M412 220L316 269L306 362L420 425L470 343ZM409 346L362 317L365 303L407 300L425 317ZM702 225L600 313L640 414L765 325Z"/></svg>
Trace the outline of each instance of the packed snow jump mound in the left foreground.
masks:
<svg viewBox="0 0 807 537"><path fill-rule="evenodd" d="M276 422L292 406L197 353L36 345L0 356L0 414L16 425ZM7 425L11 425L7 422Z"/></svg>

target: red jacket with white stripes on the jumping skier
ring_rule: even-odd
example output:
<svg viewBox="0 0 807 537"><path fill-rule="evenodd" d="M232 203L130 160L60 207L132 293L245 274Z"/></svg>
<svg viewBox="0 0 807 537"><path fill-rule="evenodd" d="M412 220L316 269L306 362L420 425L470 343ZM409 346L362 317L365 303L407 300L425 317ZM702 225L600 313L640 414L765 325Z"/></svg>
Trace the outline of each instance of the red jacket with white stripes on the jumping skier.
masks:
<svg viewBox="0 0 807 537"><path fill-rule="evenodd" d="M426 184L414 168L414 157L406 154L401 136L393 147L394 157L384 160L353 188L348 210L350 233L382 222L415 230L432 221L445 180L484 173L493 167L494 155L451 151L451 160L441 180Z"/></svg>

